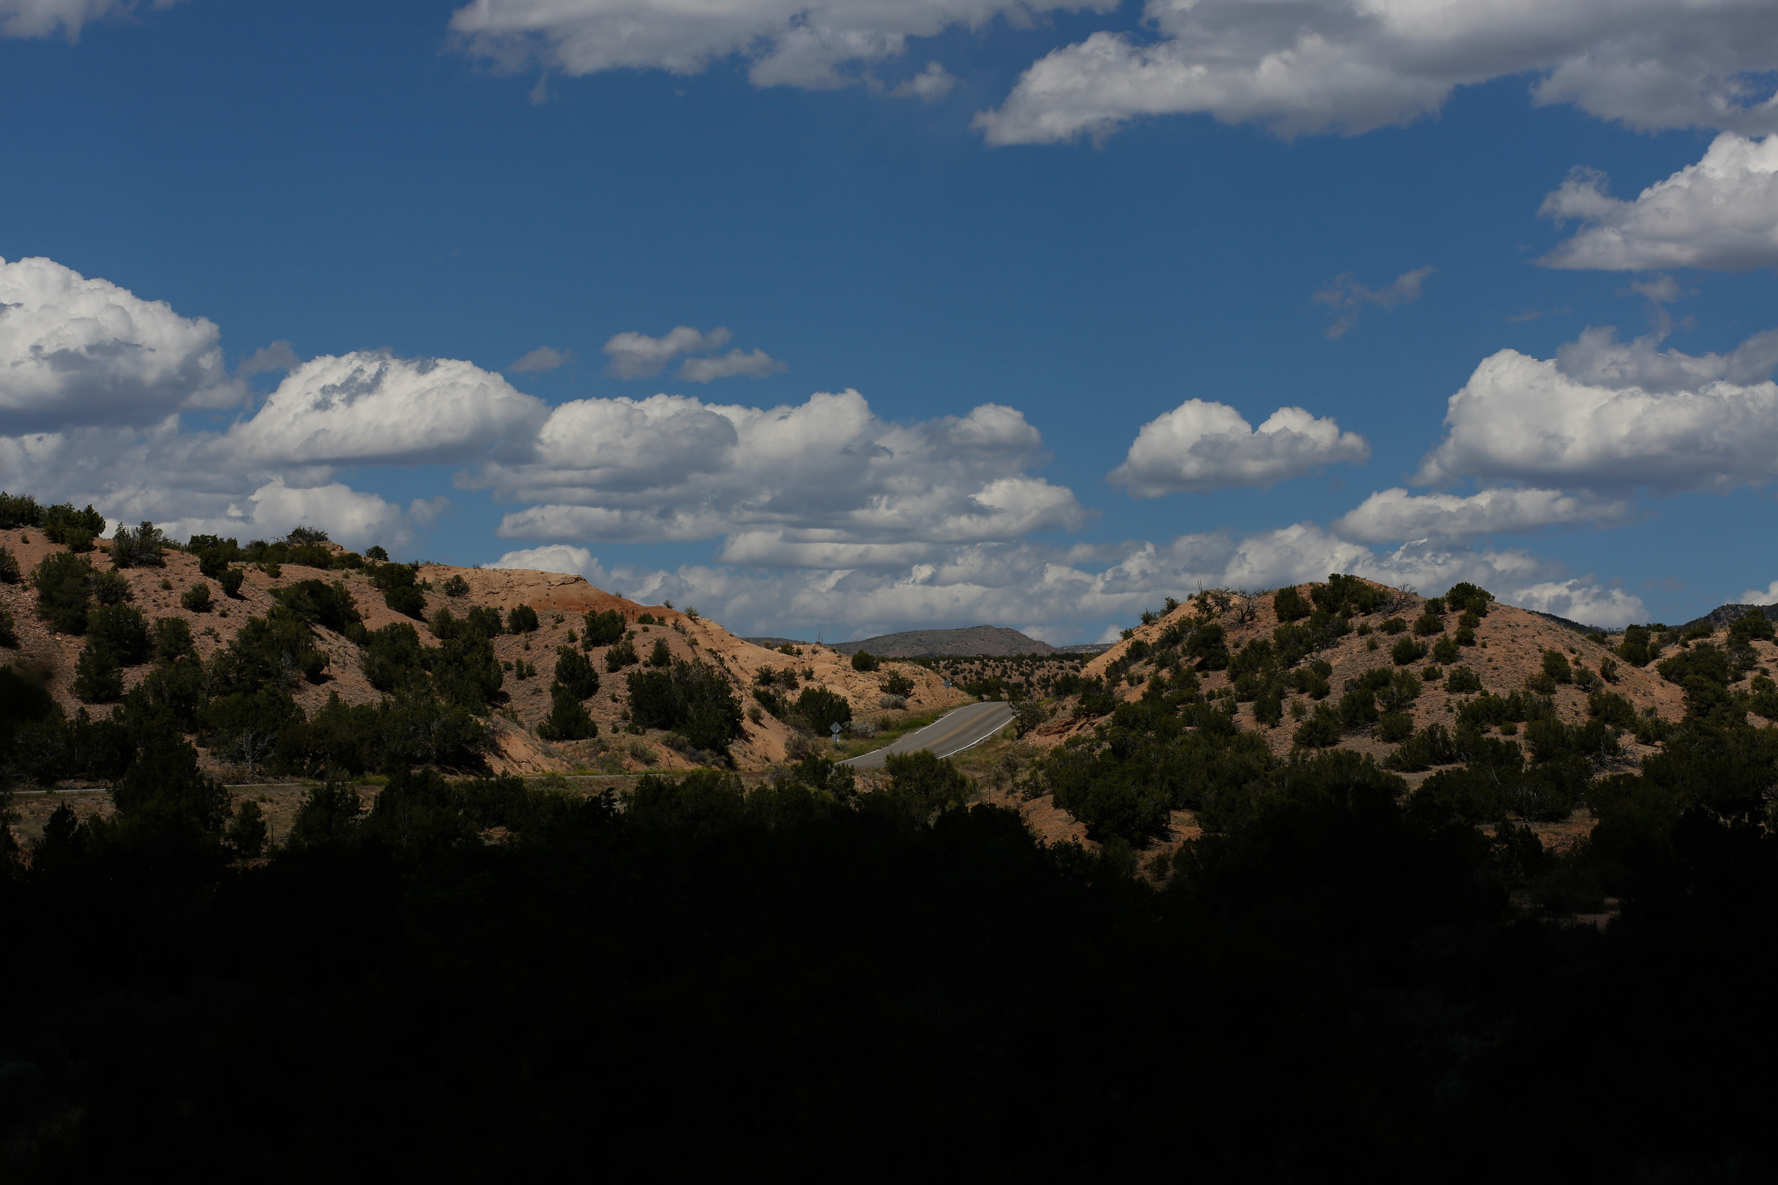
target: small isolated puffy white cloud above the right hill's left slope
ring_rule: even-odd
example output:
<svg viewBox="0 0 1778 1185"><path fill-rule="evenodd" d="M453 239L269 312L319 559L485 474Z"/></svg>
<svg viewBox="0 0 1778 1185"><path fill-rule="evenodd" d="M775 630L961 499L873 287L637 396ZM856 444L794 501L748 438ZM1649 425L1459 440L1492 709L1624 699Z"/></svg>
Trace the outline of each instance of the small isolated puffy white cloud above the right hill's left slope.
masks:
<svg viewBox="0 0 1778 1185"><path fill-rule="evenodd" d="M1280 407L1259 428L1227 403L1186 400L1141 426L1109 481L1136 497L1179 490L1268 487L1337 462L1362 464L1371 446L1332 418Z"/></svg>

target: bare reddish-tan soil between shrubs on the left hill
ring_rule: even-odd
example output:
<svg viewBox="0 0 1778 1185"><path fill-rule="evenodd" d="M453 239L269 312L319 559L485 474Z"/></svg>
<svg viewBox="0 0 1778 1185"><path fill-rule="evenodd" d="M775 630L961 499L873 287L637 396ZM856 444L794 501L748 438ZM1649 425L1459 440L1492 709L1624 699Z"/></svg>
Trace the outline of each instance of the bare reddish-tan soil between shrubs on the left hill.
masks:
<svg viewBox="0 0 1778 1185"><path fill-rule="evenodd" d="M110 705L85 705L73 695L75 664L84 640L53 632L36 611L36 595L30 586L32 569L52 553L68 549L50 544L36 528L0 529L0 545L12 551L23 574L20 583L0 585L0 604L11 611L18 632L14 666L44 686L69 716L80 709L92 716L110 714ZM334 544L325 547L331 554L343 551ZM96 547L87 553L87 558L96 569L117 570L128 581L132 604L142 611L149 624L162 616L183 618L190 625L199 657L206 663L226 648L251 618L263 616L272 609L276 604L274 590L306 579L343 585L370 631L407 622L416 627L423 647L439 645L425 622L404 616L384 604L384 595L372 585L368 569L283 563L277 576L270 576L261 567L240 565L244 574L240 595L229 599L217 590L215 581L203 577L197 556L181 551L165 551L164 567L114 569L107 542L96 540ZM461 577L468 590L462 595L448 597L443 588L453 577ZM645 736L626 732L624 675L606 672L605 647L587 654L601 679L599 691L585 702L587 712L599 725L599 737L555 744L537 737L537 725L551 709L549 684L557 666L557 647L569 645L569 631L583 629L583 613L617 611L629 624L633 645L644 659L656 641L665 643L670 657L701 661L718 672L745 705L754 705L750 689L763 670L786 666L798 670L800 686L818 686L845 696L855 718L880 714L882 682L893 673L900 673L914 684L905 696L909 709L926 709L948 698L942 680L919 666L885 663L877 672L855 672L848 656L832 647L816 645L802 645L802 654L795 657L777 654L733 636L708 618L615 597L594 588L580 576L427 563L420 567L418 579L425 595L425 615L450 608L457 616L462 616L473 606L487 606L501 615L517 606L530 606L537 611L539 629L535 632L503 632L493 640L496 657L507 666L501 691L509 696L507 704L487 718L494 741L494 750L487 757L496 773L571 771L592 764L596 757L601 766L615 769L676 769L697 764L693 755L679 753L669 744L672 737L658 732ZM206 583L213 592L210 611L192 611L181 606L181 595L199 583ZM642 622L644 616L653 618L653 622ZM290 693L302 711L313 716L331 695L338 695L347 704L379 702L382 693L366 679L359 647L322 625L315 625L313 632L329 663L322 682L311 684L302 679L292 682ZM526 672L523 679L517 677L521 663ZM124 672L126 691L146 679L149 670L149 664L128 668ZM532 670L535 673L530 673ZM629 670L638 668L631 666ZM793 736L793 728L770 714L761 714L759 720L749 718L741 737L731 748L731 755L740 767L772 766L784 760ZM229 773L238 775L240 771Z"/></svg>

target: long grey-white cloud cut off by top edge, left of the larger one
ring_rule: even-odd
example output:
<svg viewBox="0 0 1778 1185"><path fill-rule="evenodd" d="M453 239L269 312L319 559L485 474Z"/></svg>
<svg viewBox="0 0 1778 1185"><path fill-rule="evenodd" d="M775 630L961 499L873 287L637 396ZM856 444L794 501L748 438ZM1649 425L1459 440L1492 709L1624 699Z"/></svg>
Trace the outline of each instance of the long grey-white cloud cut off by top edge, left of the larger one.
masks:
<svg viewBox="0 0 1778 1185"><path fill-rule="evenodd" d="M1029 20L1113 7L1117 0L475 0L450 27L464 50L505 68L695 75L741 55L756 85L825 89L861 82L861 69L900 57L909 37L981 27L1003 14ZM917 87L914 94L926 98Z"/></svg>

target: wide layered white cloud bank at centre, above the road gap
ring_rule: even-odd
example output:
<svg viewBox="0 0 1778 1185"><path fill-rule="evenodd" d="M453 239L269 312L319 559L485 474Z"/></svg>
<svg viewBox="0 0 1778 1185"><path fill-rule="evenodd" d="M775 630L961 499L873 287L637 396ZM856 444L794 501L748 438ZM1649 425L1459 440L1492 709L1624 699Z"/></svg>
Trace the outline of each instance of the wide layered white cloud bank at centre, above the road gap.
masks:
<svg viewBox="0 0 1778 1185"><path fill-rule="evenodd" d="M533 506L505 538L711 538L738 563L900 563L941 544L1076 528L1065 487L1029 469L1042 437L1010 407L912 425L857 391L795 407L688 396L555 409L528 462L462 478Z"/></svg>

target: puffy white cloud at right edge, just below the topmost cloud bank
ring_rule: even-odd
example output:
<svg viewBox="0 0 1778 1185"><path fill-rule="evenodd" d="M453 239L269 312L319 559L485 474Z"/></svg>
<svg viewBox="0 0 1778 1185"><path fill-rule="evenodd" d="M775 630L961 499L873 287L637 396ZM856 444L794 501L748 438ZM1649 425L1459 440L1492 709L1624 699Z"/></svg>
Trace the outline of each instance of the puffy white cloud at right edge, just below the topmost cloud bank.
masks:
<svg viewBox="0 0 1778 1185"><path fill-rule="evenodd" d="M1778 266L1778 135L1716 137L1696 165L1645 188L1636 201L1606 192L1606 178L1575 171L1538 210L1581 231L1538 263L1552 268L1646 272Z"/></svg>

